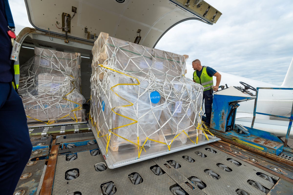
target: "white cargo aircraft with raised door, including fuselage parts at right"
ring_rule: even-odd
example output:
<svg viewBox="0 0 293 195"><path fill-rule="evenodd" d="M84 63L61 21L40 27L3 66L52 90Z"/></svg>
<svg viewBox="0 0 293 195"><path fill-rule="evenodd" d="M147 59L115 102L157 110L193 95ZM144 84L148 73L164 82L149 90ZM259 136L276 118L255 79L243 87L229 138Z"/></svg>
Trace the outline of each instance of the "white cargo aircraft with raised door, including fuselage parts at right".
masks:
<svg viewBox="0 0 293 195"><path fill-rule="evenodd" d="M18 36L22 43L20 64L26 62L33 51L29 48L43 47L57 51L80 52L82 92L90 99L89 69L91 48L99 32L110 36L154 47L161 37L175 25L186 20L199 20L209 25L217 22L222 13L202 0L164 1L32 1L25 0L32 28L25 28ZM85 11L86 10L86 11ZM109 25L113 24L113 25ZM62 40L62 41L61 41ZM84 65L83 65L84 64ZM221 85L242 86L240 81L253 87L293 87L292 62L282 86L276 86L244 77L222 73ZM290 115L292 92L261 90L258 112ZM284 95L283 95L284 94ZM268 99L272 96L273 99ZM282 101L279 101L282 100ZM270 106L269 106L270 105ZM237 108L238 123L250 126L254 101L242 102ZM289 122L265 115L257 115L255 127L284 136ZM292 133L290 134L292 136Z"/></svg>

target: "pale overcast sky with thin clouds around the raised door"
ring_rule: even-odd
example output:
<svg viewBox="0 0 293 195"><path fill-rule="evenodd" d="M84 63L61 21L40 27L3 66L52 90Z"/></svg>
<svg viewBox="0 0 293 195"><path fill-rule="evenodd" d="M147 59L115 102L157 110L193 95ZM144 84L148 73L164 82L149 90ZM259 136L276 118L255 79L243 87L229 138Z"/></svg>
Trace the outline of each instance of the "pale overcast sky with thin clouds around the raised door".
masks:
<svg viewBox="0 0 293 195"><path fill-rule="evenodd" d="M187 54L217 71L281 85L293 57L293 1L206 0L223 15L216 24L188 20L169 30L156 49ZM30 26L23 0L9 0L16 34Z"/></svg>

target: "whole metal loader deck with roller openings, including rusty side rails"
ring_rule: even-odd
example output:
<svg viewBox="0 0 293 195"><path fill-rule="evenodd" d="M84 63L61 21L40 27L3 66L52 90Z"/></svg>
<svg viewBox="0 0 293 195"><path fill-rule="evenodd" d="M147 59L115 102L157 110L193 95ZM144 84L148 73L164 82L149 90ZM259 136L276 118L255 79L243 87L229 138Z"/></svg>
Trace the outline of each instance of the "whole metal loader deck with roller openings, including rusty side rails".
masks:
<svg viewBox="0 0 293 195"><path fill-rule="evenodd" d="M293 194L292 166L224 141L216 141L115 169L106 166L104 171L98 172L95 165L97 163L106 165L105 156L91 155L91 151L99 149L92 133L64 135L53 142L52 138L31 140L34 146L31 160L37 163L26 166L23 174L32 173L32 176L20 180L16 189L20 192L25 190L25 194L39 195L36 189L40 188L38 183L42 179L43 170L46 172L40 195L103 195L102 185L108 182L115 185L115 195L172 195L170 189L173 187L180 187L185 195L237 195L241 190L246 191L248 195ZM94 141L95 144L88 145L88 141ZM74 143L75 147L66 148L69 143ZM76 154L76 159L67 161L66 158L70 154ZM178 163L178 168L174 166L177 169L170 165L169 162L172 161ZM238 165L232 161L237 161ZM160 167L162 175L155 175L152 171L157 167ZM76 178L67 180L67 172L73 170L78 173ZM142 182L134 185L130 176L136 173L142 178ZM214 174L217 177L212 177ZM261 174L272 178L273 183L260 177ZM191 182L193 177L200 179L204 188L200 189L195 182ZM249 182L258 183L269 192L260 191Z"/></svg>

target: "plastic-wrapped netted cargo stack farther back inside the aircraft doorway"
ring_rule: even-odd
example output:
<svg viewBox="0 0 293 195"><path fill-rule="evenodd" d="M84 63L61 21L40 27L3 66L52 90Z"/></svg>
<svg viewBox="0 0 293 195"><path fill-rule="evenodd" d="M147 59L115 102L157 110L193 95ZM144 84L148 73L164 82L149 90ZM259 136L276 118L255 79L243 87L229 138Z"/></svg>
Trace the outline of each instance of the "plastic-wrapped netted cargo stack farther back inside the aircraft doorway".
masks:
<svg viewBox="0 0 293 195"><path fill-rule="evenodd" d="M83 121L80 54L34 49L35 56L20 67L28 125Z"/></svg>

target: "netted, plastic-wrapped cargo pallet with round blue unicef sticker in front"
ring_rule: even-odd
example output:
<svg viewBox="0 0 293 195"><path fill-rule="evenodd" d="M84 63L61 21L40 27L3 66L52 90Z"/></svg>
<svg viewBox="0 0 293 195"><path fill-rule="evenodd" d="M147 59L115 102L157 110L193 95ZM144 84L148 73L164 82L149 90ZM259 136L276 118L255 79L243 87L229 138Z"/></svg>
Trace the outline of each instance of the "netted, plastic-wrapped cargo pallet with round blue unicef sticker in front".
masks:
<svg viewBox="0 0 293 195"><path fill-rule="evenodd" d="M188 56L103 32L92 53L90 120L110 168L194 147L199 137L209 141L201 127L203 87L184 76Z"/></svg>

